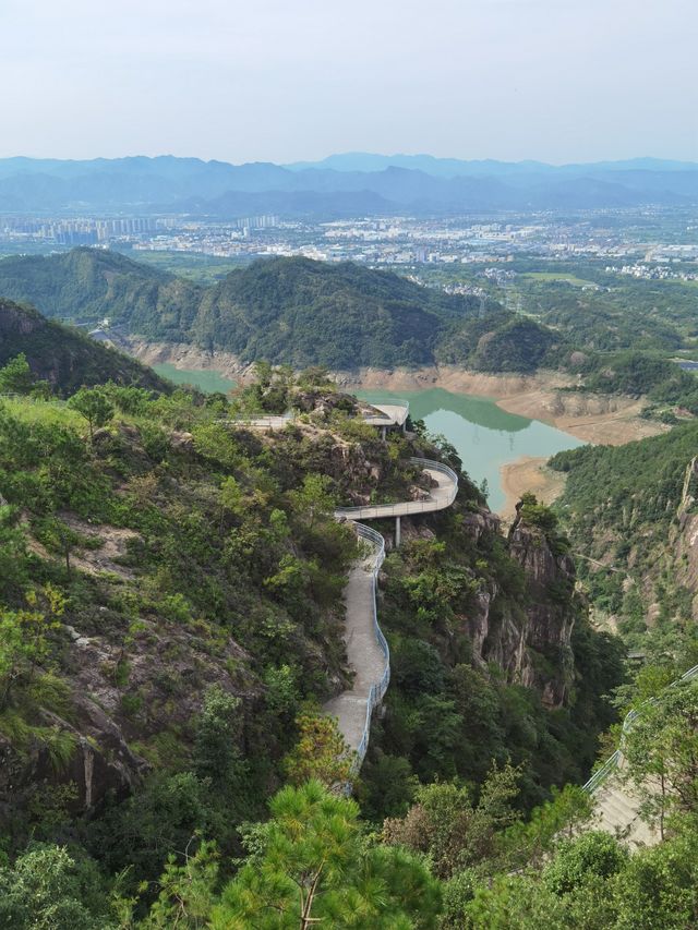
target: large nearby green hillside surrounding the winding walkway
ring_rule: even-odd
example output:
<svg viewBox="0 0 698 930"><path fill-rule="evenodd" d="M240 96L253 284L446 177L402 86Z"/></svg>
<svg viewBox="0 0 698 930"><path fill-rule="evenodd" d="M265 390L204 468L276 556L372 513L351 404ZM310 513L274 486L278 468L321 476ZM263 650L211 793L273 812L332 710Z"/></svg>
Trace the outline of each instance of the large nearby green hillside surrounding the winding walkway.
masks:
<svg viewBox="0 0 698 930"><path fill-rule="evenodd" d="M116 384L0 401L4 926L293 927L332 833L344 878L321 869L313 915L448 927L488 870L583 817L567 788L528 822L589 771L623 675L552 514L529 498L504 535L419 424L384 440L322 371L258 373L232 403ZM230 422L289 404L281 432ZM419 498L413 455L458 469L459 495L405 520L386 565L393 685L358 806L330 790L348 770L318 715L352 674L359 552L333 510ZM438 838L444 816L479 826Z"/></svg>

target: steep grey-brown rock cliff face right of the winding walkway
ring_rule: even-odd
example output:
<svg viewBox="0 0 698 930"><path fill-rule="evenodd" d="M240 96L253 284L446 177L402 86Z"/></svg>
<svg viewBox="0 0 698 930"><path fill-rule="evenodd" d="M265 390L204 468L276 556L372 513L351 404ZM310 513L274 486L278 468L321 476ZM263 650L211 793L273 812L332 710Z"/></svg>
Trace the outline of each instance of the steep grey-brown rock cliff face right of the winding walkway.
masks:
<svg viewBox="0 0 698 930"><path fill-rule="evenodd" d="M476 536L497 530L498 520L481 514L468 521ZM513 604L496 585L480 591L477 607L467 617L473 655L495 662L507 679L534 688L544 704L561 706L574 672L570 647L575 616L575 567L569 556L556 554L545 533L518 518L508 534L509 555L520 565L526 593Z"/></svg>

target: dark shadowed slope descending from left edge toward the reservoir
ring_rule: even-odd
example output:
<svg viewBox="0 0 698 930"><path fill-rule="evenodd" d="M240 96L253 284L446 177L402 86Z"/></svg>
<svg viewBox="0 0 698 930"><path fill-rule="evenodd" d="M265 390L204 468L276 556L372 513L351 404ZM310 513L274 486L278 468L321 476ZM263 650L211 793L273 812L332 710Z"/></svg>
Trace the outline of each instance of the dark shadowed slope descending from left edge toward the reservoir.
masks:
<svg viewBox="0 0 698 930"><path fill-rule="evenodd" d="M167 382L135 359L74 327L45 319L33 307L0 298L0 366L21 352L37 378L47 381L58 394L107 381L169 390Z"/></svg>

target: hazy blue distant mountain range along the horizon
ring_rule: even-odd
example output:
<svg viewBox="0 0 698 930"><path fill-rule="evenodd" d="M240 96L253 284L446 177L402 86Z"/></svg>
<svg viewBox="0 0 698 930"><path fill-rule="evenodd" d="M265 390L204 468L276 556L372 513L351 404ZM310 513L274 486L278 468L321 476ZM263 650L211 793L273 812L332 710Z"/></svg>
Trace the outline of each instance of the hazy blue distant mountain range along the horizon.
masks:
<svg viewBox="0 0 698 930"><path fill-rule="evenodd" d="M233 219L698 204L698 162L590 165L333 155L320 162L197 158L0 159L0 213L129 210Z"/></svg>

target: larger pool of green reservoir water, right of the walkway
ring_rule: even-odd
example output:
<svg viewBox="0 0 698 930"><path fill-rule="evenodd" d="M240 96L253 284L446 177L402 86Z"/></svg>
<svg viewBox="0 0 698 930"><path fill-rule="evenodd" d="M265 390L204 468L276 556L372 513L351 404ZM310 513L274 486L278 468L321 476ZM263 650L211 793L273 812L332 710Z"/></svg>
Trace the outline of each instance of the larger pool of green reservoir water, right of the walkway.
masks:
<svg viewBox="0 0 698 930"><path fill-rule="evenodd" d="M552 456L585 444L568 433L540 420L507 413L493 400L468 394L433 388L392 394L386 390L359 390L357 395L374 403L409 400L410 415L423 420L430 433L444 435L452 443L471 479L488 481L488 502L500 510L505 502L500 469L521 456Z"/></svg>

